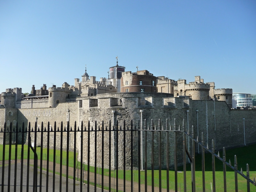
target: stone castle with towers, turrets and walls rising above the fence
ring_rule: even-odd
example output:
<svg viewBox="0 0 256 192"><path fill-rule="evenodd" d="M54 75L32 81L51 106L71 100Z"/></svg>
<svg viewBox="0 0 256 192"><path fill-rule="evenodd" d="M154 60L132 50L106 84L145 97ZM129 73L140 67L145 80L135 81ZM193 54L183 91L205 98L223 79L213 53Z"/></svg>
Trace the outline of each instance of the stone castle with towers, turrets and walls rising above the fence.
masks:
<svg viewBox="0 0 256 192"><path fill-rule="evenodd" d="M82 121L111 120L115 124L117 120L136 122L142 117L148 122L168 119L170 124L176 119L181 125L185 119L186 130L194 125L194 134L200 136L203 132L206 144L215 140L216 149L255 142L256 110L231 109L232 89L215 89L213 82L204 83L200 76L187 84L184 79L155 77L147 70L125 72L118 63L111 71L108 79L96 81L85 69L82 80L76 78L74 86L67 82L62 87L53 85L48 95L38 92L23 97L21 88L6 89L1 95L4 108L0 108L0 129L4 122L8 127L11 122L49 122L52 126L56 121L60 127L61 121L79 125ZM45 84L41 91L47 91ZM79 153L83 149L77 146L77 150Z"/></svg>

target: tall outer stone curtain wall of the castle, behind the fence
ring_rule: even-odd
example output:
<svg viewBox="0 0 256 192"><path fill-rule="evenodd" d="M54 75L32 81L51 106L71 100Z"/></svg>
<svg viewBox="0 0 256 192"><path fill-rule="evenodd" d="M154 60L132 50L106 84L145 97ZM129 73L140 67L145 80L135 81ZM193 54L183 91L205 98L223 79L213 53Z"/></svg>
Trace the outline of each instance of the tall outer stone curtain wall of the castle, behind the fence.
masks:
<svg viewBox="0 0 256 192"><path fill-rule="evenodd" d="M81 122L84 122L84 126L88 129L88 121L91 122L90 128L94 129L94 122L98 122L98 127L101 129L102 121L109 122L111 120L111 125L113 125L113 116L114 123L118 120L119 126L123 127L124 120L127 126L131 126L131 121L133 120L133 124L136 125L138 129L138 121L141 118L140 110L142 112L142 118L146 119L149 123L153 120L153 127L158 125L158 119L160 118L161 124L165 126L165 121L168 119L169 125L174 124L174 119L176 120L177 127L182 126L184 119L184 129L191 132L191 127L194 125L194 133L197 136L199 134L199 140L201 140L201 132L204 133L204 141L205 145L208 143L211 146L211 140L215 141L216 150L221 149L223 147L230 148L235 146L243 146L244 145L244 127L243 127L243 118L245 118L245 143L248 145L250 143L255 142L256 138L256 110L231 110L225 101L213 101L213 100L191 100L191 99L183 99L183 98L171 98L172 94L167 93L116 93L116 94L101 94L94 97L90 97L88 99L83 99L82 101L76 102L66 102L59 103L55 108L27 108L27 109L0 109L0 121L6 121L8 118L12 118L11 121L17 120L17 122L24 121L27 123L31 122L31 126L34 126L35 121L41 123L42 121L44 127L47 129L47 122L49 121L50 126L54 126L54 122L56 121L57 127L60 127L61 121L63 125L67 127L67 122L70 122L70 126L74 129L75 121L77 126L81 127ZM146 97L146 98L145 98ZM120 99L122 103L120 103ZM144 100L144 102L143 102ZM146 102L145 102L146 101ZM214 107L215 106L215 107ZM8 114L8 110L13 112L13 116L4 120L3 116ZM197 132L197 116L196 110L198 110L198 132ZM5 112L6 111L6 112ZM16 114L15 114L16 111ZM37 119L36 119L37 117ZM188 119L187 119L188 117ZM108 123L107 123L108 124ZM144 125L144 122L143 122ZM1 126L1 125L0 125ZM37 125L38 126L38 125ZM41 127L41 124L39 124ZM106 125L105 125L106 126ZM107 125L108 126L108 125ZM150 124L149 124L150 126ZM3 127L3 123L2 123ZM0 137L1 137L0 133ZM52 133L51 133L52 134ZM77 145L76 149L78 151L78 157L80 158L80 151L83 150L84 159L83 161L87 161L87 152L86 147L84 149L80 148L80 133L77 133ZM105 134L105 133L104 133ZM107 133L106 133L107 134ZM112 133L111 133L112 134ZM131 145L131 133L127 133L126 143L127 143L127 154L130 154L132 151L129 151L129 145ZM149 133L148 133L149 134ZM87 135L87 136L86 136ZM138 134L137 134L138 135ZM133 135L134 142L134 151L138 150L138 143L136 144L136 140L138 140L138 136L135 133ZM45 137L45 135L44 135ZM84 134L84 145L87 146L88 143L88 133ZM90 133L91 141L95 137L95 133L93 131ZM97 143L101 142L102 136L98 133L97 135ZM170 136L172 137L172 136ZM51 138L53 138L51 136ZM59 136L57 137L59 138ZM113 154L113 136L111 136L111 150ZM116 135L114 134L114 138ZM119 143L122 143L123 133L118 133ZM145 138L145 134L143 135ZM156 136L156 151L157 151L157 142L158 136ZM148 137L150 140L150 137ZM32 142L34 138L32 137ZM164 152L164 146L166 146L166 141L164 137L162 138L161 146ZM40 141L40 137L37 138L37 142ZM50 146L52 147L52 140ZM60 140L57 140L57 148L60 146ZM66 141L63 141L63 144ZM93 140L94 142L94 140ZM115 147L115 139L114 139L114 147ZM180 139L177 141L181 142ZM91 142L90 142L91 143ZM129 144L130 143L130 144ZM93 145L91 145L92 149ZM150 149L150 142L148 142L148 149ZM173 146L173 143L170 144ZM44 144L45 146L45 144ZM63 145L65 148L65 145ZM70 150L74 149L74 134L70 134ZM97 145L98 146L98 145ZM109 149L109 141L108 136L105 137L104 142L104 151ZM67 146L66 146L67 148ZM97 147L98 148L98 147ZM114 149L116 150L116 149ZM118 148L119 161L122 162L122 154L123 148ZM90 162L94 164L94 151L91 151ZM143 152L144 153L144 152ZM145 154L144 154L145 155ZM143 155L143 156L144 156ZM148 154L147 154L148 155ZM97 161L100 160L100 150L97 152ZM157 156L157 154L156 154ZM99 159L98 159L99 158ZM137 162L136 156L134 156L134 162ZM151 158L148 156L148 158ZM111 158L112 159L112 158ZM155 158L157 162L157 157ZM108 161L108 155L104 155L104 161ZM113 160L112 164L113 164ZM127 166L129 167L129 160L127 158ZM163 157L164 161L164 157ZM150 162L148 160L148 162ZM172 162L172 161L171 161ZM120 164L121 165L121 164Z"/></svg>

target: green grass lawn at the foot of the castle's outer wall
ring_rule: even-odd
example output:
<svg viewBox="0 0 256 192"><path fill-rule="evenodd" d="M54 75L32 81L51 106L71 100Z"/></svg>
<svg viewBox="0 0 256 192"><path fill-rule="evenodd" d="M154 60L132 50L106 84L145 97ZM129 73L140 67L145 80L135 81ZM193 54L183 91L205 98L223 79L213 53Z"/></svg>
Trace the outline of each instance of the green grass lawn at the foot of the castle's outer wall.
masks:
<svg viewBox="0 0 256 192"><path fill-rule="evenodd" d="M15 154L15 145L12 145L12 156L11 159L14 159ZM256 157L256 145L246 146L242 148L236 148L236 149L229 149L226 150L226 159L227 161L230 159L231 164L234 166L234 156L237 156L237 162L238 162L238 170L241 170L241 167L243 168L244 174L246 174L246 163L249 164L250 168L250 178L253 180L253 177L256 177L256 164L255 164L255 157ZM40 159L40 147L36 148L38 159ZM20 158L20 152L21 152L21 145L18 145L18 159ZM27 158L27 152L28 152L28 146L24 145L24 159ZM2 160L2 154L3 154L3 145L0 145L0 160ZM8 159L9 154L9 145L6 145L5 147L5 159ZM49 150L49 160L53 161L53 149ZM65 164L65 157L66 157L66 151L63 151L63 161L62 164ZM56 163L60 164L60 150L56 150ZM77 153L76 153L77 156ZM220 156L222 156L222 151L220 151ZM32 150L30 150L30 158L33 159L34 155ZM43 148L43 160L47 158L47 149ZM74 153L69 152L69 166L73 167L73 158ZM202 191L202 162L201 162L201 155L196 155L196 191ZM205 154L205 185L206 185L206 191L211 191L211 182L212 182L212 156L211 154ZM77 162L78 166L80 166L80 162ZM216 191L223 191L223 172L222 172L222 162L215 160L216 163ZM85 165L85 169L87 170L87 165ZM183 167L178 168L180 171L183 171ZM96 169L96 172L98 173L98 170L101 168ZM187 164L187 191L191 191L191 172L190 172L190 164ZM94 172L94 167L90 166L90 172ZM145 183L145 172L141 173L141 183ZM108 169L104 169L104 175L108 175ZM116 175L116 171L115 171ZM123 179L124 171L119 170L118 171L118 177L120 179ZM131 180L131 171L126 171L126 180ZM134 175L134 181L138 182L138 171L133 171ZM114 171L111 171L111 176L114 177ZM174 190L174 171L169 171L169 177L170 177L170 188ZM155 186L159 185L159 172L158 170L154 171L154 184ZM234 191L235 190L235 182L234 182L234 172L227 168L227 188L228 191ZM151 170L148 170L148 185L151 185ZM166 170L162 170L162 188L166 188L167 181L166 181ZM238 189L239 191L246 191L246 180L238 175ZM178 173L178 191L183 191L183 172ZM251 191L256 191L256 187L251 185Z"/></svg>

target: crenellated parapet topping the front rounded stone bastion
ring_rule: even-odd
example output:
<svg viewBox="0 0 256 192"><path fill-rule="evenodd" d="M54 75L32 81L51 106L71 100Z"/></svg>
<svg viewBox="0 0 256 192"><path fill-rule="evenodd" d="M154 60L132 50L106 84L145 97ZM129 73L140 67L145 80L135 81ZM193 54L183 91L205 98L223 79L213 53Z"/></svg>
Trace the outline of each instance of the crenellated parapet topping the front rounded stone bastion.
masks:
<svg viewBox="0 0 256 192"><path fill-rule="evenodd" d="M86 97L78 101L79 108L109 109L123 108L133 110L134 108L189 108L191 99L188 97L168 97L171 94L154 94L153 96L140 93L125 94L102 94Z"/></svg>

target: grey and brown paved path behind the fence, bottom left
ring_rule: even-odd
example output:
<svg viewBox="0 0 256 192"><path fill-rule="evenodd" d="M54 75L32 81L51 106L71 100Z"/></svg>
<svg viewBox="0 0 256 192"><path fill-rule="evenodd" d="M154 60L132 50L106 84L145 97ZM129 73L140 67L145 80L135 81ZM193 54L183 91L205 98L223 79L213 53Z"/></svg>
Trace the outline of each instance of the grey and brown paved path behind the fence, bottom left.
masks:
<svg viewBox="0 0 256 192"><path fill-rule="evenodd" d="M24 159L24 163L27 163L27 160ZM1 162L2 164L2 162ZM7 166L6 166L7 164ZM29 164L34 164L33 160L30 160ZM17 191L20 191L20 170L21 170L21 163L17 162ZM40 161L38 161L38 166L40 166ZM42 167L46 168L46 162L43 161L42 163ZM56 172L60 172L60 164L56 164L55 166L55 171ZM66 174L66 167L64 165L62 165L62 174ZM49 162L49 170L53 170L53 162ZM69 167L68 169L68 175L69 176L73 176L73 167ZM2 181L2 165L0 167L0 181ZM76 177L80 178L81 173L80 173L80 169L76 170ZM7 184L8 184L8 161L5 162L5 168L4 168L4 191L7 191ZM94 182L94 173L90 172L90 182ZM11 165L11 191L14 190L14 161L12 161L12 165ZM38 191L39 191L39 178L40 178L40 170L37 169L37 184L38 184ZM42 191L46 191L46 171L43 171L42 174ZM84 180L87 180L88 178L88 172L84 171ZM116 189L116 178L110 178L111 181L111 188L115 188ZM53 173L49 172L49 184L48 184L48 190L52 191L52 186L53 186ZM23 164L23 191L26 191L26 183L27 183L27 165ZM55 191L60 191L60 176L59 175L55 175ZM96 184L101 185L101 174L97 174L96 175ZM103 176L103 183L104 186L108 187L109 186L109 177L108 176ZM132 191L131 190L131 181L125 181L125 191L129 192ZM1 185L0 185L1 186ZM28 187L29 191L33 191L33 166L29 166L29 187ZM62 177L62 191L66 191L66 177ZM68 191L73 191L73 180L69 179L68 180ZM80 181L76 181L76 191L80 191ZM83 191L87 191L87 184L83 185ZM89 191L94 191L94 186L90 185L89 187ZM96 188L96 191L100 192L101 188ZM104 190L106 191L106 190ZM124 191L124 180L122 179L118 179L118 191ZM133 191L137 192L139 191L139 184L138 183L134 183L133 186ZM140 185L140 191L145 191L145 185L141 184ZM152 191L152 186L148 186L147 188L148 192ZM154 188L155 192L159 191L159 188L155 187ZM166 189L162 189L163 192L167 191Z"/></svg>

